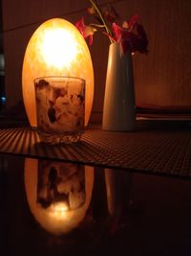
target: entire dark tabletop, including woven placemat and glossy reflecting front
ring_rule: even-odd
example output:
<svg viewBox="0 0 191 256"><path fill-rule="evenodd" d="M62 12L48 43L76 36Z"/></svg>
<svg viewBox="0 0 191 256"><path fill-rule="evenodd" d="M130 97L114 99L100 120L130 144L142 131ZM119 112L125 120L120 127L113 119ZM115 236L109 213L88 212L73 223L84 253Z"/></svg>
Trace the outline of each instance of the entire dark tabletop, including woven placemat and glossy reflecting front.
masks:
<svg viewBox="0 0 191 256"><path fill-rule="evenodd" d="M0 151L0 255L191 255L189 128L91 128L71 146L1 128Z"/></svg>

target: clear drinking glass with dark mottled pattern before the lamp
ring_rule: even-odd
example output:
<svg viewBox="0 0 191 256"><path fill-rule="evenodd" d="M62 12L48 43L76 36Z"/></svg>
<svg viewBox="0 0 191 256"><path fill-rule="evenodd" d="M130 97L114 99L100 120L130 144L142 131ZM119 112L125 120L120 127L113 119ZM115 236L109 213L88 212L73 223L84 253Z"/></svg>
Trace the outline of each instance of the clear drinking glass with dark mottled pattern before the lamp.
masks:
<svg viewBox="0 0 191 256"><path fill-rule="evenodd" d="M37 130L41 141L79 141L84 132L85 81L73 77L34 80Z"/></svg>

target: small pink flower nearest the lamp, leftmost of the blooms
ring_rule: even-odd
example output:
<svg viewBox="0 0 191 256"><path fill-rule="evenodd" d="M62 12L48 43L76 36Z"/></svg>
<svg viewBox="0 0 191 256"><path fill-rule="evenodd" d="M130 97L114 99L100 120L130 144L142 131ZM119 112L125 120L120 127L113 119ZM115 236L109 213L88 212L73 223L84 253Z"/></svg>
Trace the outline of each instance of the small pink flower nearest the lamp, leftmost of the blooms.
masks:
<svg viewBox="0 0 191 256"><path fill-rule="evenodd" d="M95 34L96 29L92 26L85 25L84 17L75 23L75 27L78 29L81 35L83 35L84 38L89 37L89 44L92 45L93 35Z"/></svg>

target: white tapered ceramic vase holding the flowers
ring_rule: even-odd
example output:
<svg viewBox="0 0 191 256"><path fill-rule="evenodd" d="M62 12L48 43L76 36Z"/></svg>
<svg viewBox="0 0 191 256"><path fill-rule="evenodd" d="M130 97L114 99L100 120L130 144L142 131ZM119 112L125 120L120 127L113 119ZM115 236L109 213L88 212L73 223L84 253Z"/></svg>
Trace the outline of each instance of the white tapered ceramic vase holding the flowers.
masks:
<svg viewBox="0 0 191 256"><path fill-rule="evenodd" d="M134 74L130 52L123 54L119 43L110 45L102 128L105 130L134 130L136 105Z"/></svg>

